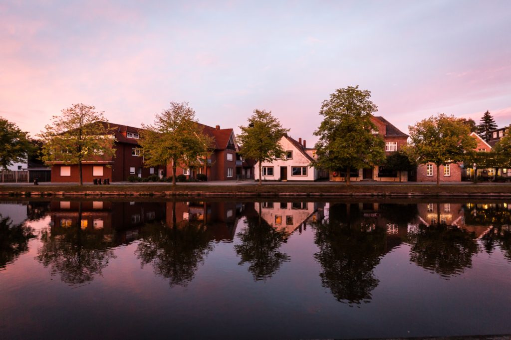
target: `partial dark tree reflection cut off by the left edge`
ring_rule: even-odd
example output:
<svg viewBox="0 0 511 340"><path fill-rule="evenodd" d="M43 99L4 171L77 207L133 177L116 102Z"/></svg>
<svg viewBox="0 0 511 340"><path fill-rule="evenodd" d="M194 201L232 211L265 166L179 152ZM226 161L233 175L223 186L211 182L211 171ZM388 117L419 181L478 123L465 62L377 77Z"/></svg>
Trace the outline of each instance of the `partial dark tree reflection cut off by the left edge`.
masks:
<svg viewBox="0 0 511 340"><path fill-rule="evenodd" d="M29 250L34 229L24 223L13 225L11 218L0 216L0 271Z"/></svg>

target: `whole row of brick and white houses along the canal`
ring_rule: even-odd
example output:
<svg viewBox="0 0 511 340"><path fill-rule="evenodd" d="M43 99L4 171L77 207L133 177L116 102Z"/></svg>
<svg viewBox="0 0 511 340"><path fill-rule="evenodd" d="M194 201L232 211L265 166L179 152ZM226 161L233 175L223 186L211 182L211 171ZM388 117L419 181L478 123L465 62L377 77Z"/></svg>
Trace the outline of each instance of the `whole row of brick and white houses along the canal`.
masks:
<svg viewBox="0 0 511 340"><path fill-rule="evenodd" d="M385 154L399 152L407 144L408 135L392 125L381 116L373 116L376 129L371 133L378 135L385 142ZM208 181L228 181L239 179L259 180L259 164L244 159L239 151L236 135L232 128L221 129L200 124L202 132L214 140L214 150L207 157L207 166L197 168L178 167L176 175L187 178L196 178L198 174L207 176ZM83 181L92 182L94 179L108 178L112 182L127 181L130 176L140 178L156 175L159 178L171 176L171 164L148 167L140 153L140 128L109 123L113 132L115 157L85 162L82 166ZM492 132L492 139L484 141L476 133L472 133L477 140L477 151L491 151L493 145L508 133L507 128ZM308 148L306 140L292 138L290 135L282 136L280 143L285 150L282 158L274 159L261 164L261 178L265 181L316 181L320 179L330 181L344 181L346 174L342 171L327 172L323 169L310 167L316 158L316 150ZM511 176L507 169L481 169L478 174L485 176ZM384 165L374 165L370 168L352 169L349 174L351 181L385 181L385 182L435 182L435 164L421 164L414 171L393 172ZM472 178L472 167L464 167L462 163L451 163L440 166L440 181L459 182L462 179ZM79 169L77 165L67 165L55 162L51 169L52 182L78 182Z"/></svg>

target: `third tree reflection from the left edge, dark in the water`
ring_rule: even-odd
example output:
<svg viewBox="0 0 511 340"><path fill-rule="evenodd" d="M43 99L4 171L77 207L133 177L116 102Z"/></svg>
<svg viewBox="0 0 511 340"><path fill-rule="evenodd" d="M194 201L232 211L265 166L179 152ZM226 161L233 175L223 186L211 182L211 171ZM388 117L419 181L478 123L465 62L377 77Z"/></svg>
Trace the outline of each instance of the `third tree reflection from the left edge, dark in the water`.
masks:
<svg viewBox="0 0 511 340"><path fill-rule="evenodd" d="M194 278L199 263L213 249L212 236L201 221L176 224L175 203L173 224L146 225L135 251L142 266L151 263L154 272L169 279L169 284L187 286Z"/></svg>

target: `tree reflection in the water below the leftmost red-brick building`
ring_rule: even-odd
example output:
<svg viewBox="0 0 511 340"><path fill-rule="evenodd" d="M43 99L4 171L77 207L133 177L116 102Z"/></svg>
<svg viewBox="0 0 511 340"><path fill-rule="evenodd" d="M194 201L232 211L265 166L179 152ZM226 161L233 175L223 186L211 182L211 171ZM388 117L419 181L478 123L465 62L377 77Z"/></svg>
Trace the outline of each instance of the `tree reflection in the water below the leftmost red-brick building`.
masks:
<svg viewBox="0 0 511 340"><path fill-rule="evenodd" d="M105 240L101 232L82 230L81 215L80 203L76 225L43 230L42 247L36 257L45 267L50 267L52 275L59 274L63 282L71 285L92 281L115 258L109 249L109 238Z"/></svg>

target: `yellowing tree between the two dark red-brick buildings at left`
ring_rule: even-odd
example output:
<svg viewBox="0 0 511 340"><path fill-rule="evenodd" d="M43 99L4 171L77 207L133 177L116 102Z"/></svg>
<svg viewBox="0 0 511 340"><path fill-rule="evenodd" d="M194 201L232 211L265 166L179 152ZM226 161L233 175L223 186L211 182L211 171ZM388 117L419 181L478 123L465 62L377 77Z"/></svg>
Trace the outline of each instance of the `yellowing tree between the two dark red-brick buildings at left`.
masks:
<svg viewBox="0 0 511 340"><path fill-rule="evenodd" d="M172 165L172 185L176 185L178 164L190 164L213 145L213 138L202 133L195 111L188 103L171 102L170 108L156 114L153 125L142 124L139 143L149 166Z"/></svg>

